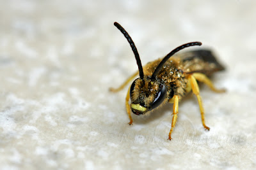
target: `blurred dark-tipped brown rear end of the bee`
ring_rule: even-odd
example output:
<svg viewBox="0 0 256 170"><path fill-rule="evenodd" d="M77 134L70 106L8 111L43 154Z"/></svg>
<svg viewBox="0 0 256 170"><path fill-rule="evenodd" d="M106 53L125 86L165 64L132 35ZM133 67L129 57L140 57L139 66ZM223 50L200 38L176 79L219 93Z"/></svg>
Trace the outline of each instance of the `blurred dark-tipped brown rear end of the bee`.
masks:
<svg viewBox="0 0 256 170"><path fill-rule="evenodd" d="M178 56L177 56L178 57ZM194 50L179 54L182 70L186 73L212 74L225 68L216 60L211 50Z"/></svg>

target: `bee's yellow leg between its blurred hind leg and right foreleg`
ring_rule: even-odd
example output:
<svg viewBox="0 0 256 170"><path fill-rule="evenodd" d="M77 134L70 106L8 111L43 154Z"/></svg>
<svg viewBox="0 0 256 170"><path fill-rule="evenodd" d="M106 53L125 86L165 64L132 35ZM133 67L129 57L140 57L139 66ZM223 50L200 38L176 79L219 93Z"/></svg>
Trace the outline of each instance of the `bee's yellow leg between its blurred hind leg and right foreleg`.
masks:
<svg viewBox="0 0 256 170"><path fill-rule="evenodd" d="M195 78L195 76L193 76L193 74L192 74L192 75L189 75L188 80L189 80L189 83L191 84L193 93L194 93L194 94L196 95L196 97L197 97L197 101L198 101L199 108L200 108L200 113L201 113L201 118L202 118L202 124L203 124L204 128L209 131L210 128L207 127L207 125L205 125L205 120L204 120L204 108L203 108L203 103L202 103L202 99L201 99L201 96L200 96L199 87L198 87L198 84L197 84L197 82L196 82L196 78Z"/></svg>

